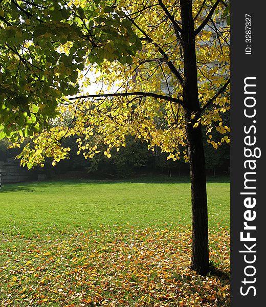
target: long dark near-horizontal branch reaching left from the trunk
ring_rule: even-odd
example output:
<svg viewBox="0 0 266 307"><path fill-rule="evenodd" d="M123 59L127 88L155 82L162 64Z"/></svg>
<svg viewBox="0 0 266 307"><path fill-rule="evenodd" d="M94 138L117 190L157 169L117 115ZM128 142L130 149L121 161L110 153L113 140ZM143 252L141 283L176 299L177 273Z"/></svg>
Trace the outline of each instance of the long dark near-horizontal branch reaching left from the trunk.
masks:
<svg viewBox="0 0 266 307"><path fill-rule="evenodd" d="M159 95L154 93L148 93L148 92L131 92L131 93L112 93L112 94L97 94L97 95L85 95L85 96L78 96L78 97L72 97L68 100L74 100L74 99L84 99L84 98L100 98L100 97L116 97L116 96L142 96L142 97L153 97L156 99L163 99L167 101L172 101L178 104L183 105L183 101L178 98L173 98L165 95Z"/></svg>

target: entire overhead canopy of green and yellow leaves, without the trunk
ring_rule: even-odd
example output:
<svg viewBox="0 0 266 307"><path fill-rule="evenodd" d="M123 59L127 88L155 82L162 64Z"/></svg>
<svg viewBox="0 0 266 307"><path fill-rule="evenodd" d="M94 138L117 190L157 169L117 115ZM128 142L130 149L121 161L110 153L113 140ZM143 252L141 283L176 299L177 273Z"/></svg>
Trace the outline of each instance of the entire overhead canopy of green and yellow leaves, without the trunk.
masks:
<svg viewBox="0 0 266 307"><path fill-rule="evenodd" d="M98 152L96 146L86 146L88 136L103 134L109 156L111 148L125 145L129 134L179 159L186 145L186 119L178 2L37 3L11 2L2 12L7 48L2 49L1 65L7 81L1 86L1 134L23 141L34 135L35 149L25 148L23 163L31 167L46 156L53 156L54 163L65 158L68 148L61 150L60 139L74 134L80 136L85 158ZM201 121L207 127L216 148L230 141L230 127L223 123L230 108L225 94L230 46L224 7L221 1L193 2L201 112L192 118L196 117L194 126ZM86 93L90 70L103 84L95 97ZM53 117L53 123L64 124L48 129ZM38 134L40 128L44 129ZM220 139L212 138L213 128Z"/></svg>

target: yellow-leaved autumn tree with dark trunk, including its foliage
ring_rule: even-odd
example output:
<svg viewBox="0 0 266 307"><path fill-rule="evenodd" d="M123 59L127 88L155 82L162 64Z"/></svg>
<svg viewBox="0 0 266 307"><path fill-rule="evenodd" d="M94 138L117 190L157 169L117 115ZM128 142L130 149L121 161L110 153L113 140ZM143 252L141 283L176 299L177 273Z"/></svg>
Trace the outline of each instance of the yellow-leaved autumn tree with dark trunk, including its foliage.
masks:
<svg viewBox="0 0 266 307"><path fill-rule="evenodd" d="M98 134L104 136L108 146L104 151L107 157L112 148L119 150L126 145L127 135L148 142L151 150L160 147L173 160L180 158L181 148L187 145L184 157L189 161L191 176L191 269L205 274L209 270L209 253L202 126L214 148L230 142L230 128L221 117L230 108L229 27L222 24L221 18L227 5L221 0L121 0L108 7L103 2L97 5L105 24L117 20L119 39L131 49L121 49L118 56L123 47L116 46L113 29L107 31L102 51L107 53L97 60L86 57L83 61L85 68L97 62L94 70L106 92L64 97L57 112L71 114L71 122L35 134L35 147L24 148L19 156L21 163L32 166L50 156L55 164L69 150L61 149L60 139L71 135L79 137L79 152L85 158L99 152L97 145L86 143ZM83 25L91 22L85 13L80 20ZM93 27L98 25L93 23ZM86 71L79 78L84 85L90 82ZM211 135L214 126L221 134L216 142Z"/></svg>

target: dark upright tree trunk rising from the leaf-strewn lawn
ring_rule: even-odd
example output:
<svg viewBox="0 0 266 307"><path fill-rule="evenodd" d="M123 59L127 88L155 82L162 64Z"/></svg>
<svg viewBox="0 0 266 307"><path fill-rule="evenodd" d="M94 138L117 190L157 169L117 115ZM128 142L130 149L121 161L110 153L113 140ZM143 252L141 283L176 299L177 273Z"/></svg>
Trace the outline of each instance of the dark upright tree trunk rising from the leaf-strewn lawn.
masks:
<svg viewBox="0 0 266 307"><path fill-rule="evenodd" d="M193 127L195 121L191 119L193 113L200 112L192 0L180 0L180 8L184 52L183 101L191 179L192 258L190 267L197 273L206 274L209 270L209 244L205 157L201 124Z"/></svg>

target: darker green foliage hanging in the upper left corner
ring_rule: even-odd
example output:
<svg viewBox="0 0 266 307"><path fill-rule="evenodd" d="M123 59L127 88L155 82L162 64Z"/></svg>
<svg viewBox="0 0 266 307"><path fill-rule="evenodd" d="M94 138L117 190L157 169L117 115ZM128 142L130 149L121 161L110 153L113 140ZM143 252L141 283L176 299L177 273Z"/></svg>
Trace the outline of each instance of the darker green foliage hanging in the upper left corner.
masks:
<svg viewBox="0 0 266 307"><path fill-rule="evenodd" d="M87 63L126 62L142 46L112 2L0 3L0 138L15 141L47 128L62 99L79 93Z"/></svg>

